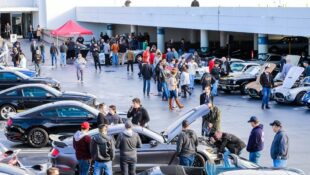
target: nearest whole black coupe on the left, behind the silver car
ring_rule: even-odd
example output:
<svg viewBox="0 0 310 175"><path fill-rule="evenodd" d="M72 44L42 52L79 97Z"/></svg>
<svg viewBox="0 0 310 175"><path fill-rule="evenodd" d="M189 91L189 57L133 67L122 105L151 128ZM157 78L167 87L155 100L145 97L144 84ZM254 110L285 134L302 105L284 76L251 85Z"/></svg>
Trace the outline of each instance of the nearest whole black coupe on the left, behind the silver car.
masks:
<svg viewBox="0 0 310 175"><path fill-rule="evenodd" d="M79 101L48 103L10 117L5 136L12 142L43 147L49 142L50 134L73 135L82 122L88 121L91 128L96 128L98 113L97 109Z"/></svg>

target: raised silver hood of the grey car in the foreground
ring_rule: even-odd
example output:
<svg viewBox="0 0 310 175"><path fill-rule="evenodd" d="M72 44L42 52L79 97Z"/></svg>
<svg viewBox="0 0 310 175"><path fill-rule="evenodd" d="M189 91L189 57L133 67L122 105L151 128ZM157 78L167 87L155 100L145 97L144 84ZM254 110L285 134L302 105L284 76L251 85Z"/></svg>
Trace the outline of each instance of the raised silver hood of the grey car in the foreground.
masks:
<svg viewBox="0 0 310 175"><path fill-rule="evenodd" d="M182 130L183 120L187 120L190 124L196 121L198 118L207 115L209 113L209 108L207 105L201 105L190 111L186 112L177 121L171 124L167 129L165 129L162 134L165 139L170 142L174 139Z"/></svg>

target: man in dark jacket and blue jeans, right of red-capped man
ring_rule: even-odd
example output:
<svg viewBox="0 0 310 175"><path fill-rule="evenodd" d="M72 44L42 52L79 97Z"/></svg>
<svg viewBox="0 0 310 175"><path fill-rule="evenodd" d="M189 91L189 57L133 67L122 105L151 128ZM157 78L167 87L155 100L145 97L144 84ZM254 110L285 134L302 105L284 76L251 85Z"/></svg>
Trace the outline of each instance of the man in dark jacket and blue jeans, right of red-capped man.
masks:
<svg viewBox="0 0 310 175"><path fill-rule="evenodd" d="M108 124L99 125L99 134L94 136L90 142L90 153L95 161L94 175L112 175L112 160L115 155L115 145L108 134Z"/></svg>

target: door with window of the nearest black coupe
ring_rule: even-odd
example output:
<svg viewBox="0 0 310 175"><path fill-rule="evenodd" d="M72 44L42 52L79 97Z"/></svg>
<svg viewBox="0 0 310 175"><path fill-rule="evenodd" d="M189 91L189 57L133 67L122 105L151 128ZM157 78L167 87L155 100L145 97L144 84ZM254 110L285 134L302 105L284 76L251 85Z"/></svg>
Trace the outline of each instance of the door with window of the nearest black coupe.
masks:
<svg viewBox="0 0 310 175"><path fill-rule="evenodd" d="M61 127L62 133L74 133L80 129L81 123L95 118L93 114L77 106L58 107L57 113L57 125Z"/></svg>

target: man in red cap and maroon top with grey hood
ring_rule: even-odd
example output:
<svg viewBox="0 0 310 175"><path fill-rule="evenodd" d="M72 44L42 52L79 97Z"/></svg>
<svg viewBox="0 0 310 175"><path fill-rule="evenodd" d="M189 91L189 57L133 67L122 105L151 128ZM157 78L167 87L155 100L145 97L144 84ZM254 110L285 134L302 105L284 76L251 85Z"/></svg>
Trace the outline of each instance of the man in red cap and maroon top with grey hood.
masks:
<svg viewBox="0 0 310 175"><path fill-rule="evenodd" d="M91 159L89 128L89 123L83 122L81 130L77 131L73 137L73 148L75 149L76 159L79 162L80 175L87 175L89 170L89 160Z"/></svg>

